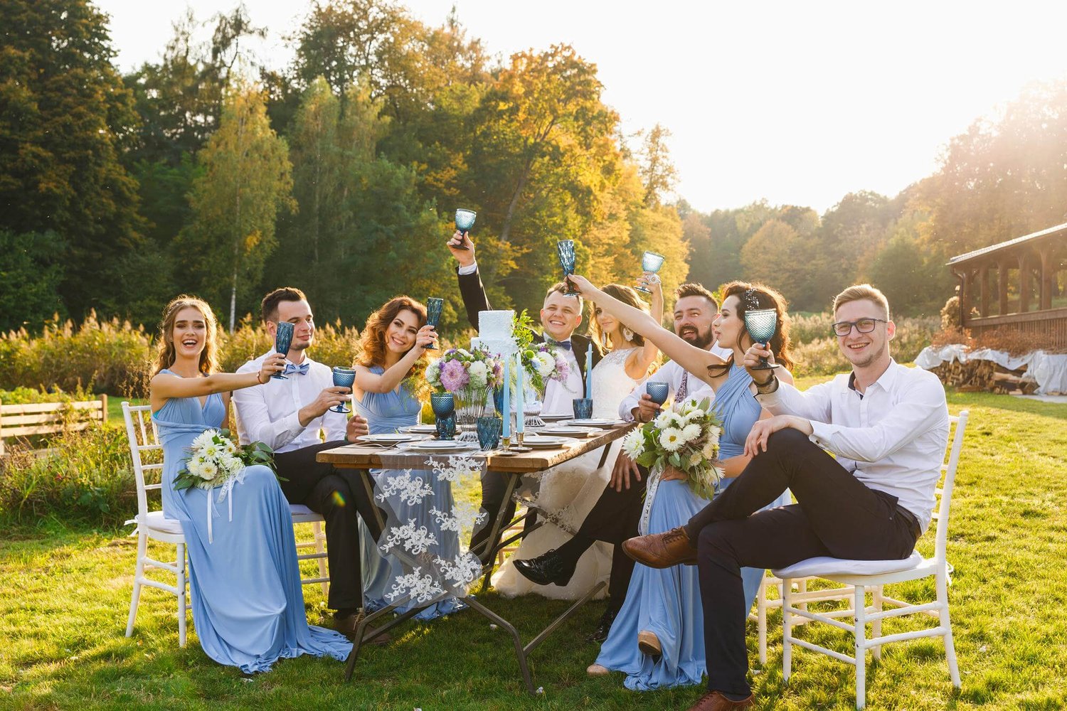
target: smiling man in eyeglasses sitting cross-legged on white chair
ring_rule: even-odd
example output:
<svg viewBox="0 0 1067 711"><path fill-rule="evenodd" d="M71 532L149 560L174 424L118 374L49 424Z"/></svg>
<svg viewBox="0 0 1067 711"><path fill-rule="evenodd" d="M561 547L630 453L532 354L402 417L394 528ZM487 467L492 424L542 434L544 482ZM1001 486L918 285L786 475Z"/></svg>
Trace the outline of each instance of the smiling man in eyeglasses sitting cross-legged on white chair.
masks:
<svg viewBox="0 0 1067 711"><path fill-rule="evenodd" d="M708 692L691 709L754 704L742 567L782 568L817 555L905 559L929 526L949 440L944 388L890 356L896 326L880 291L849 287L833 300L833 313L851 372L800 392L752 368L770 355L754 344L745 366L774 417L758 421L745 442L752 460L686 526L623 544L644 565L699 566ZM796 504L759 511L786 488Z"/></svg>

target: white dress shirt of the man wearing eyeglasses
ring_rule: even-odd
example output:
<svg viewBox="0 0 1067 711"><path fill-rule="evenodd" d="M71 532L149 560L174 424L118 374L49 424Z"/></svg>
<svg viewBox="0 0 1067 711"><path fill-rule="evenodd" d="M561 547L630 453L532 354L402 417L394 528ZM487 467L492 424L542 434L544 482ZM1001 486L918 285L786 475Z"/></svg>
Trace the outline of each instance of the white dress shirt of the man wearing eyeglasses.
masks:
<svg viewBox="0 0 1067 711"><path fill-rule="evenodd" d="M813 442L870 488L895 496L925 531L949 442L944 386L934 373L895 360L862 394L851 378L841 373L803 392L779 382L757 400L774 415L810 420Z"/></svg>

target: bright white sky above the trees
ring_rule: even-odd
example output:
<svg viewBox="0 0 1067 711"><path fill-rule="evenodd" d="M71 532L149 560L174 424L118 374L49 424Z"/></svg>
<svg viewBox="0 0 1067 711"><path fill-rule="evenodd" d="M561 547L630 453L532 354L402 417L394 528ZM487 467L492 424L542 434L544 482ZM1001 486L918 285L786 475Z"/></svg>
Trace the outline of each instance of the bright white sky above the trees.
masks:
<svg viewBox="0 0 1067 711"><path fill-rule="evenodd" d="M125 71L158 61L175 3L95 0L112 17ZM236 0L191 0L197 19ZM309 6L248 0L291 52ZM662 124L678 194L710 211L766 198L825 211L846 193L895 195L937 167L947 141L1034 80L1067 76L1065 2L734 2L692 0L408 0L460 21L503 56L569 43L594 62L627 133ZM147 10L152 7L152 10Z"/></svg>

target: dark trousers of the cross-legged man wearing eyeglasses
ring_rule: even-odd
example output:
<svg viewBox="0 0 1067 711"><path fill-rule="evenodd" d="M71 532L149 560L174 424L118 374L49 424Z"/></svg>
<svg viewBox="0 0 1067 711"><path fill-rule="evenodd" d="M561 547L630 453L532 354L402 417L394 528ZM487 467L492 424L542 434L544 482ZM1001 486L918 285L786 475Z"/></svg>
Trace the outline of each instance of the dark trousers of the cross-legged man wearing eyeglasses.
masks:
<svg viewBox="0 0 1067 711"><path fill-rule="evenodd" d="M796 504L760 511L786 488ZM767 451L685 528L698 542L707 688L742 695L751 693L742 567L781 568L816 555L904 559L919 536L896 497L867 488L793 429L770 435Z"/></svg>

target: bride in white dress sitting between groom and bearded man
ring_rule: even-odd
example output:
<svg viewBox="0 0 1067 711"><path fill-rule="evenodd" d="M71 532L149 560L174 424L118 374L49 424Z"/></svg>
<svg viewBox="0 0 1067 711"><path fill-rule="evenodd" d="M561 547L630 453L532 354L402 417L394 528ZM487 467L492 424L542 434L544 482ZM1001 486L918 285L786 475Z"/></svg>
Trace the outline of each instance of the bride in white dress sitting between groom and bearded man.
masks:
<svg viewBox="0 0 1067 711"><path fill-rule="evenodd" d="M652 291L651 309L631 287L610 284L604 287L604 292L663 321L664 302L659 281L654 276L642 276L640 282ZM592 337L609 350L590 373L593 418L615 420L625 397L648 377L659 351L599 307L594 308L591 323ZM517 597L537 593L556 600L570 600L582 597L598 582L607 581L611 572L612 547L602 542L582 555L567 585L537 585L515 570L511 561L536 558L574 535L611 478L620 441L610 445L607 456L604 456L603 449L587 452L541 475L535 505L538 518L545 522L526 536L512 558L493 575L493 586L501 595ZM602 460L604 465L598 466ZM599 597L606 595L607 587L600 592Z"/></svg>

